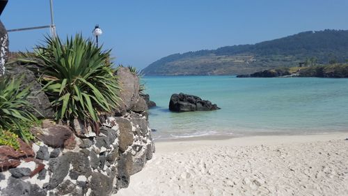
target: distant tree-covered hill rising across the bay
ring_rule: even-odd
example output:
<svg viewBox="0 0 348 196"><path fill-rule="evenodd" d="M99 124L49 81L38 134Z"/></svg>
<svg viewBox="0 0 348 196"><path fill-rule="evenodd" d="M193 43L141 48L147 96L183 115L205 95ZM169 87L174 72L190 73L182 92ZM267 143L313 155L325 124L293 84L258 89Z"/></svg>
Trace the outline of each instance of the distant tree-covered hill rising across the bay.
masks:
<svg viewBox="0 0 348 196"><path fill-rule="evenodd" d="M254 45L233 45L166 56L143 69L145 75L237 75L299 63L343 63L348 31L306 31Z"/></svg>

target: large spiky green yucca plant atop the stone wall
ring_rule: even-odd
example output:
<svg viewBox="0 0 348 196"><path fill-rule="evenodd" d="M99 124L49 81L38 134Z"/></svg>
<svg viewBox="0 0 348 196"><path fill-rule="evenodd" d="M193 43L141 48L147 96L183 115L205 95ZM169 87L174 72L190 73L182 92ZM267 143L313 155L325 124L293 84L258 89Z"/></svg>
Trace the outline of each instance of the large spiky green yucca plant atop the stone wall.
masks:
<svg viewBox="0 0 348 196"><path fill-rule="evenodd" d="M45 45L19 61L35 63L32 70L56 111L56 120L79 119L99 133L99 115L111 112L119 100L110 53L77 34L65 43L46 37Z"/></svg>

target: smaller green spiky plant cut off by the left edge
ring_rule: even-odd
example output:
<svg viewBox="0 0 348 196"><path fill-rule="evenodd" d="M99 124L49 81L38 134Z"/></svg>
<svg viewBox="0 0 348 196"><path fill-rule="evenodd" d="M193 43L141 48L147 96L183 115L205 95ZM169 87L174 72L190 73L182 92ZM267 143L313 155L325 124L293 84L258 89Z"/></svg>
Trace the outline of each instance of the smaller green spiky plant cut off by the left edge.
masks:
<svg viewBox="0 0 348 196"><path fill-rule="evenodd" d="M38 121L30 112L35 109L26 100L30 94L30 86L22 87L22 78L0 77L0 135L1 138L18 135L25 142L33 139L29 132L30 126ZM9 143L6 143L9 142ZM13 140L1 140L1 144L12 144L18 146L15 138ZM4 143L5 142L5 143Z"/></svg>

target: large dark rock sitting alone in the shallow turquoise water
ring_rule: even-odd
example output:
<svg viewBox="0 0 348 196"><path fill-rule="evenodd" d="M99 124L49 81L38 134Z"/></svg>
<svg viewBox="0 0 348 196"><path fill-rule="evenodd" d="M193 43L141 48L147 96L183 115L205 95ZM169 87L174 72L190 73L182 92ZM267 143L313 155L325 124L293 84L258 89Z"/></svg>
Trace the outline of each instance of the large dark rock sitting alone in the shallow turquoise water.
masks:
<svg viewBox="0 0 348 196"><path fill-rule="evenodd" d="M219 110L216 104L209 100L202 100L198 96L187 95L184 93L173 94L169 101L169 110L173 112L209 111Z"/></svg>

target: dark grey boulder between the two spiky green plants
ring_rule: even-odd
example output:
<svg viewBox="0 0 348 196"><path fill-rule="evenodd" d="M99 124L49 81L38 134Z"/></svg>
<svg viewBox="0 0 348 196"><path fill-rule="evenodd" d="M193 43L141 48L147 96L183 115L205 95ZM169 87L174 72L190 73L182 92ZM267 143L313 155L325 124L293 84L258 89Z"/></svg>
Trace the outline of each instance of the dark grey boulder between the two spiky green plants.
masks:
<svg viewBox="0 0 348 196"><path fill-rule="evenodd" d="M22 84L24 84L23 88L26 86L31 86L30 95L27 100L33 108L38 111L33 112L34 116L38 119L53 119L54 111L51 107L51 103L49 103L49 99L46 94L42 91L41 85L36 81L34 73L26 68L25 66L18 65L16 63L12 63L8 65L6 69L6 74L13 75L16 78L24 76L22 80Z"/></svg>

